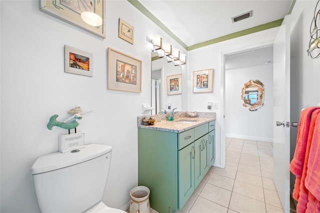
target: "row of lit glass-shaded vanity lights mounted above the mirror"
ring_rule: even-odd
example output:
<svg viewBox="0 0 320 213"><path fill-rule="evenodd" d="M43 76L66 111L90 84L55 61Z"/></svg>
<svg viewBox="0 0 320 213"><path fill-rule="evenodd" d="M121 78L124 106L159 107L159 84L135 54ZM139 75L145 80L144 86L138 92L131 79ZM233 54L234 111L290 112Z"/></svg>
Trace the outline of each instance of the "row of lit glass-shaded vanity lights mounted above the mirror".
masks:
<svg viewBox="0 0 320 213"><path fill-rule="evenodd" d="M166 42L162 45L161 35L155 34L151 42L154 51L158 53L159 57L166 57L166 61L173 61L175 66L186 64L186 54L180 53L180 50L177 48L172 48L170 43Z"/></svg>

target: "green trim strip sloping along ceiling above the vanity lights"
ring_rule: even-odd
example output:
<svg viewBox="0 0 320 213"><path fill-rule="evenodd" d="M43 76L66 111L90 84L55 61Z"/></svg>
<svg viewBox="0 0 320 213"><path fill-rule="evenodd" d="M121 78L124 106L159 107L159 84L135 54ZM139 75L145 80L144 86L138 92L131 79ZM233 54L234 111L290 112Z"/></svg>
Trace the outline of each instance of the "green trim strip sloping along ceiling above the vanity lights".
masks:
<svg viewBox="0 0 320 213"><path fill-rule="evenodd" d="M140 12L142 12L145 16L147 16L150 20L152 20L170 37L172 37L183 48L185 48L185 50L187 50L188 46L180 38L178 38L168 27L166 27L159 19L157 19L149 10L147 10L138 0L127 0L127 1L129 1L135 8L140 10Z"/></svg>

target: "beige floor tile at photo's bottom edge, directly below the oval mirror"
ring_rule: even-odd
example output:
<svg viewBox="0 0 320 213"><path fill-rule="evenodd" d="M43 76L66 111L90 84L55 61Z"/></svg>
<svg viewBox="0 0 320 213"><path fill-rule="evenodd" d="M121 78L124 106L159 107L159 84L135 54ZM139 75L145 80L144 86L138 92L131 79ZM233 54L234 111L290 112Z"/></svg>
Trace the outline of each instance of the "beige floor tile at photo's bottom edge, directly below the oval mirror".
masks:
<svg viewBox="0 0 320 213"><path fill-rule="evenodd" d="M229 208L243 213L264 213L264 202L232 192Z"/></svg>

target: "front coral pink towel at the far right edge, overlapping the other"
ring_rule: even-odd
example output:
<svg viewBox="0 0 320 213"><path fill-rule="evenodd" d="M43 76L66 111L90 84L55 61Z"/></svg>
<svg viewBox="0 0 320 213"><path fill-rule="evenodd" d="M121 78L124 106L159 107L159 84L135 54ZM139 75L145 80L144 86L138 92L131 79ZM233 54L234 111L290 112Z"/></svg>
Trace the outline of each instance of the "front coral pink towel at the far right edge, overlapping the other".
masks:
<svg viewBox="0 0 320 213"><path fill-rule="evenodd" d="M320 200L320 115L315 121L304 184L308 191Z"/></svg>

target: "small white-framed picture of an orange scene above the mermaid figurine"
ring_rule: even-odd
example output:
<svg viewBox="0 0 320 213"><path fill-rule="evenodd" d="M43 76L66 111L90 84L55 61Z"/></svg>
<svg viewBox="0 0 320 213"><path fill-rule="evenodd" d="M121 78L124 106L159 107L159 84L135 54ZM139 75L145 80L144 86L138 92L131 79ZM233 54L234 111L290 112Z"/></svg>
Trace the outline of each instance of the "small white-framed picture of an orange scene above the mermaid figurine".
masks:
<svg viewBox="0 0 320 213"><path fill-rule="evenodd" d="M92 53L64 45L64 72L91 76Z"/></svg>

